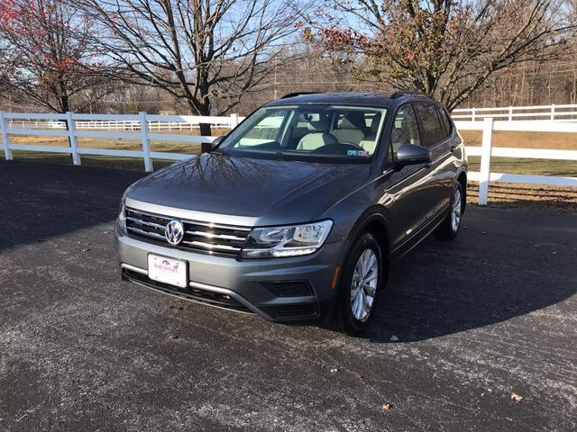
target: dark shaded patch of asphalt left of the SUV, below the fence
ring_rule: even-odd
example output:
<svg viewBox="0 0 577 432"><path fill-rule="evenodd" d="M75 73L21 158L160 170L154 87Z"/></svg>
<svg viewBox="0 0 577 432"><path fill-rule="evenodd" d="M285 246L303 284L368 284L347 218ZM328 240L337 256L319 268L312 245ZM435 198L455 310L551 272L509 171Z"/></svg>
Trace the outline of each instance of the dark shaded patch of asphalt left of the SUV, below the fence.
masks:
<svg viewBox="0 0 577 432"><path fill-rule="evenodd" d="M142 175L89 166L0 161L0 251L113 222L124 189Z"/></svg>

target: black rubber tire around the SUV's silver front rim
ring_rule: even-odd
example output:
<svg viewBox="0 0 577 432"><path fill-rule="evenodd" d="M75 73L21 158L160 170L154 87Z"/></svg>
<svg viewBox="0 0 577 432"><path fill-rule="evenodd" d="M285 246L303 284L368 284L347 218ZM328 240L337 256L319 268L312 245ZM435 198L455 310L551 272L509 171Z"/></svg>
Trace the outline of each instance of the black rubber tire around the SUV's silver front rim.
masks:
<svg viewBox="0 0 577 432"><path fill-rule="evenodd" d="M368 315L362 320L357 319L353 312L352 303L352 289L353 289L353 275L355 267L359 262L362 254L366 250L371 250L377 260L377 277L376 286L374 290L374 295L372 296L371 307L369 308ZM369 252L369 257L371 253ZM375 306L379 296L381 284L383 281L383 276L385 275L383 268L382 253L380 251L379 242L370 232L363 232L359 238L351 247L348 257L345 259L345 264L343 266L343 273L340 280L340 287L337 299L337 308L334 314L331 327L342 333L346 333L351 336L356 336L363 330L369 327L371 319L374 315ZM364 293L367 293L366 291ZM364 297L363 297L364 300Z"/></svg>

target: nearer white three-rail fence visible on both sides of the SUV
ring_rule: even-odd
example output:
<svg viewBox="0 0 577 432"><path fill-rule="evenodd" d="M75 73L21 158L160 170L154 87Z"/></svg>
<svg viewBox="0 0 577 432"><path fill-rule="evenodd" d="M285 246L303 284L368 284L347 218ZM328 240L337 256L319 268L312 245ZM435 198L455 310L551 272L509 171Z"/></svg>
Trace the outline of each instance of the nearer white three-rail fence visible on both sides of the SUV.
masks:
<svg viewBox="0 0 577 432"><path fill-rule="evenodd" d="M576 105L577 106L577 105ZM74 165L81 164L81 155L100 155L113 157L137 157L144 160L144 168L151 171L152 159L179 160L191 157L183 153L169 153L151 151L152 140L169 140L189 143L209 143L215 137L203 137L188 134L155 133L152 128L162 130L160 124L172 123L171 127L179 125L183 130L197 128L199 123L210 123L216 127L233 129L242 120L237 114L229 117L200 117L200 116L176 116L176 115L149 115L140 112L138 115L114 115L114 114L78 114L67 112L65 114L43 113L18 113L0 112L0 133L2 135L2 149L5 158L13 158L13 150L64 153L71 154ZM21 122L24 121L22 124ZM37 122L38 121L38 122ZM117 122L131 125L129 131L109 130L82 130L78 126L86 127L85 123ZM28 122L28 123L26 123ZM30 124L33 122L34 125ZM47 126L49 122L61 122L68 130L54 129ZM469 173L469 179L480 182L479 204L486 205L490 182L516 183L516 184L545 184L554 186L577 187L577 177L563 177L553 175L517 175L490 172L490 158L495 157L530 157L538 159L561 159L577 161L577 150L555 150L536 148L493 148L491 138L493 130L516 130L536 132L575 132L576 122L560 121L494 121L485 118L484 121L455 121L458 130L481 130L481 147L467 147L467 153L471 156L481 156L481 172ZM24 125L24 127L23 127ZM44 126L44 129L39 129ZM90 128L94 129L94 128ZM98 128L99 129L99 128ZM13 144L10 142L11 135L33 136L57 136L69 139L69 147L37 146L27 144ZM138 139L141 148L137 150L120 150L109 148L84 148L78 146L78 138L94 139Z"/></svg>

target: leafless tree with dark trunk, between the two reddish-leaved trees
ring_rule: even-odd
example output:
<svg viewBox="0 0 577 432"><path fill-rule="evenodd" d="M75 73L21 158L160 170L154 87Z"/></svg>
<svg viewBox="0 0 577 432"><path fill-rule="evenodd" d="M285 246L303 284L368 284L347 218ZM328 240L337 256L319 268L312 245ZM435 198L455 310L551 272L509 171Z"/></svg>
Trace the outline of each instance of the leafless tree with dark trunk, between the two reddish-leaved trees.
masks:
<svg viewBox="0 0 577 432"><path fill-rule="evenodd" d="M197 115L257 91L300 12L291 0L72 0L106 31L124 80L160 87ZM201 125L203 135L209 125Z"/></svg>

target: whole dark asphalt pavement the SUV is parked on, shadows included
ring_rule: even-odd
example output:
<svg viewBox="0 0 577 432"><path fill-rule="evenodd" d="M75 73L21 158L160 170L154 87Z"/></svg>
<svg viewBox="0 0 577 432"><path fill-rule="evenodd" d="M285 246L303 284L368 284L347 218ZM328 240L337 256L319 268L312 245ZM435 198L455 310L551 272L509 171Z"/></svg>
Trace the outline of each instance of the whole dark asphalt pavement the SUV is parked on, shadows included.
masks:
<svg viewBox="0 0 577 432"><path fill-rule="evenodd" d="M470 206L351 338L121 282L142 175L0 161L0 430L577 430L576 216Z"/></svg>

